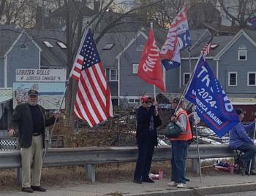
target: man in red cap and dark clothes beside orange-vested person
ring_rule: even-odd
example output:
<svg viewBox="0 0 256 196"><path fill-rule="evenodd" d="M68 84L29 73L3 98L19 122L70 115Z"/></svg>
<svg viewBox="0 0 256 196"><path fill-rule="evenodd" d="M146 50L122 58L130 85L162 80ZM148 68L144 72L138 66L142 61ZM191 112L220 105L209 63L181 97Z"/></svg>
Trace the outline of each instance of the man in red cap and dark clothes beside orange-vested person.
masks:
<svg viewBox="0 0 256 196"><path fill-rule="evenodd" d="M137 111L136 138L138 144L138 160L136 163L134 182L154 183L148 177L151 168L154 146L157 146L157 130L161 120L152 99L146 95L141 98L142 106Z"/></svg>

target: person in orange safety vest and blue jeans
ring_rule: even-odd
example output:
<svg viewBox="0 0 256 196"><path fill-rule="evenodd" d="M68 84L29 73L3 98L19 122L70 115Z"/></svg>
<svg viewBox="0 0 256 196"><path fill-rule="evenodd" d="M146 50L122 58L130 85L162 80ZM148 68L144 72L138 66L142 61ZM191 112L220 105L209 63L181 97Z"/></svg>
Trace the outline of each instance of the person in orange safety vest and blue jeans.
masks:
<svg viewBox="0 0 256 196"><path fill-rule="evenodd" d="M187 151L189 142L192 139L192 131L189 125L187 111L182 109L184 100L173 98L172 109L176 110L176 114L171 117L171 120L181 128L181 135L177 138L169 138L172 144L171 158L171 182L170 187L185 188L186 187L186 163Z"/></svg>

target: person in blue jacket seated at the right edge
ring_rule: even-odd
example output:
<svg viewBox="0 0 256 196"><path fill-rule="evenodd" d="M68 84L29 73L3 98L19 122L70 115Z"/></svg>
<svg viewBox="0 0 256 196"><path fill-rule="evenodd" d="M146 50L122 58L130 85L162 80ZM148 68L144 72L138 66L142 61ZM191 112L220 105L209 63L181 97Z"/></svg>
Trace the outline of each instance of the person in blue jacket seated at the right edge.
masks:
<svg viewBox="0 0 256 196"><path fill-rule="evenodd" d="M246 164L247 174L249 171L249 162L252 160L249 174L256 175L256 171L254 170L256 147L254 146L252 139L247 135L249 130L255 129L256 118L255 122L252 122L249 125L243 125L241 121L244 119L244 113L243 109L236 109L236 114L238 114L240 122L229 131L229 144L231 149L238 149L241 152L244 152L244 154L241 155L240 160Z"/></svg>

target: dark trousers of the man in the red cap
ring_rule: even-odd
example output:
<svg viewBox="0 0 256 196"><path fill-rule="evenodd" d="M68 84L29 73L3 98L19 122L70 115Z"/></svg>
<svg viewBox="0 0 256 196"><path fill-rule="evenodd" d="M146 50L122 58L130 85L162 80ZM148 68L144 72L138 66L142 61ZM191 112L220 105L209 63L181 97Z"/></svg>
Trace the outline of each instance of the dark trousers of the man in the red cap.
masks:
<svg viewBox="0 0 256 196"><path fill-rule="evenodd" d="M152 157L154 154L154 144L138 143L138 159L136 162L134 179L148 179L148 173L151 168Z"/></svg>

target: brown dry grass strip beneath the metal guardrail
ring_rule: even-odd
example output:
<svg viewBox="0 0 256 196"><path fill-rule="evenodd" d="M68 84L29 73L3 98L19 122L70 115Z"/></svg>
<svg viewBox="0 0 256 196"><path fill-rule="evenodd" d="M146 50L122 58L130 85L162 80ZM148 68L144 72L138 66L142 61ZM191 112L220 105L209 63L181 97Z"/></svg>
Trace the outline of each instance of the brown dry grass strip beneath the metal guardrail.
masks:
<svg viewBox="0 0 256 196"><path fill-rule="evenodd" d="M229 175L227 172L215 170L211 163L202 165L203 176ZM135 162L113 163L96 166L96 180L99 182L132 181L135 170ZM156 174L159 169L164 170L164 178L170 179L170 162L153 162L151 172ZM20 189L16 186L16 170L0 170L0 189L10 191ZM191 172L191 161L187 162L187 176L197 176ZM42 168L42 186L67 187L79 184L90 184L86 180L86 171L82 166Z"/></svg>

